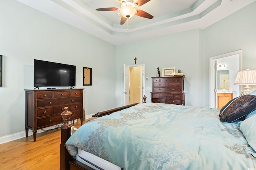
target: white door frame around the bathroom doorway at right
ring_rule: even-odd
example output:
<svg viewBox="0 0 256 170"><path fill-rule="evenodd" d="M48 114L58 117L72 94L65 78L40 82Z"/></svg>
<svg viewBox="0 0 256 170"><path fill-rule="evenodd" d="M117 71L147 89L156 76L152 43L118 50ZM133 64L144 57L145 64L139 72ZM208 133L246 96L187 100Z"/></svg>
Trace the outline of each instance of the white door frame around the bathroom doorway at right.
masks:
<svg viewBox="0 0 256 170"><path fill-rule="evenodd" d="M215 68L215 63L216 63L216 59L220 59L220 58L224 58L224 57L228 57L231 55L237 55L239 57L239 70L242 70L242 50L237 50L237 51L233 51L230 53L226 53L226 54L222 54L222 55L217 55L214 57L211 57L209 59L209 107L215 108L215 103L216 103L216 95L215 95L215 75L216 75L216 68ZM240 89L241 91L241 89Z"/></svg>

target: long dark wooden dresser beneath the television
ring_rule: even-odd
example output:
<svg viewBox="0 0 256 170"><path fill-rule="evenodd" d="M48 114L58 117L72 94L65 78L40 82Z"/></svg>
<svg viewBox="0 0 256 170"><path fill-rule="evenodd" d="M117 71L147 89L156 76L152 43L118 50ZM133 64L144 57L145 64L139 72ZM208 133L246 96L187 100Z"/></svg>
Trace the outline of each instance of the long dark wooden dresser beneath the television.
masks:
<svg viewBox="0 0 256 170"><path fill-rule="evenodd" d="M36 141L37 129L62 123L60 113L68 106L72 112L71 120L83 120L83 90L84 89L54 89L54 90L25 90L26 117L25 129L33 131Z"/></svg>

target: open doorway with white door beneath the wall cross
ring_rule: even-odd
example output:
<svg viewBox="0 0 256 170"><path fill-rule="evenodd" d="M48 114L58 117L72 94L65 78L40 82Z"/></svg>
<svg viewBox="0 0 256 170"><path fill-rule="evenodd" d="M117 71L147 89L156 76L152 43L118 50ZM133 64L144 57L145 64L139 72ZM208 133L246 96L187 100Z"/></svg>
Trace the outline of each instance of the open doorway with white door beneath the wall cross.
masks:
<svg viewBox="0 0 256 170"><path fill-rule="evenodd" d="M133 103L142 103L145 94L145 64L124 64L124 106Z"/></svg>

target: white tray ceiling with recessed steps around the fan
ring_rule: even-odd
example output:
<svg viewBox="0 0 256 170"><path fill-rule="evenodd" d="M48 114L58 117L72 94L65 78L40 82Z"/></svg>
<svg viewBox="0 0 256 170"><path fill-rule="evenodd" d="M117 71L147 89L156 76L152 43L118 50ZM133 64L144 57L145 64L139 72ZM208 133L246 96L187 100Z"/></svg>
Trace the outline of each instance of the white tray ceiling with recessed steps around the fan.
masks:
<svg viewBox="0 0 256 170"><path fill-rule="evenodd" d="M120 7L118 0L17 0L58 20L114 45L204 29L255 0L150 0L137 9L153 19L133 16L120 25L118 11L96 8Z"/></svg>

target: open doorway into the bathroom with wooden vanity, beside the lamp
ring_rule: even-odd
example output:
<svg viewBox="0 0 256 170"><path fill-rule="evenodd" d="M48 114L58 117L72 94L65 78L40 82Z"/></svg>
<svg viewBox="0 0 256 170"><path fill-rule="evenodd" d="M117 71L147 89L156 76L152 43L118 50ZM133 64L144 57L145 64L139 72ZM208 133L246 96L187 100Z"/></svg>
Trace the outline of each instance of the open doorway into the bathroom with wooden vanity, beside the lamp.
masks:
<svg viewBox="0 0 256 170"><path fill-rule="evenodd" d="M240 88L234 85L242 66L242 50L210 58L210 107L221 108L239 96Z"/></svg>

